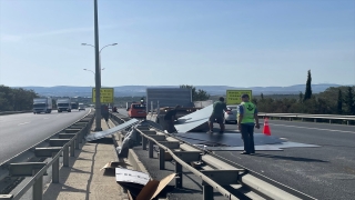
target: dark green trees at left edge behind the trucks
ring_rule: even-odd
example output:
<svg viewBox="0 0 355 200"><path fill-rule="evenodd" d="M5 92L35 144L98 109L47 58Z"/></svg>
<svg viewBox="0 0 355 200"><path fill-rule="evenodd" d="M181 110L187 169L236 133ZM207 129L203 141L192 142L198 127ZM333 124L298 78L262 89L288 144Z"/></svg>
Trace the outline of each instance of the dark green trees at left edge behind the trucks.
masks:
<svg viewBox="0 0 355 200"><path fill-rule="evenodd" d="M32 110L33 98L38 97L33 90L0 84L0 112Z"/></svg>

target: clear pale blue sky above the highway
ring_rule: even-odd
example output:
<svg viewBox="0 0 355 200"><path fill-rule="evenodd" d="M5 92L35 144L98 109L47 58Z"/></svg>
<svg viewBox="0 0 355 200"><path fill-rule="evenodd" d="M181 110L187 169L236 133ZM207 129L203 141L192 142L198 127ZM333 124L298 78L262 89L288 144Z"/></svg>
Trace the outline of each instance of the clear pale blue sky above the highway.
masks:
<svg viewBox="0 0 355 200"><path fill-rule="evenodd" d="M354 0L98 1L106 87L355 84ZM0 0L0 84L93 86L83 42L93 0Z"/></svg>

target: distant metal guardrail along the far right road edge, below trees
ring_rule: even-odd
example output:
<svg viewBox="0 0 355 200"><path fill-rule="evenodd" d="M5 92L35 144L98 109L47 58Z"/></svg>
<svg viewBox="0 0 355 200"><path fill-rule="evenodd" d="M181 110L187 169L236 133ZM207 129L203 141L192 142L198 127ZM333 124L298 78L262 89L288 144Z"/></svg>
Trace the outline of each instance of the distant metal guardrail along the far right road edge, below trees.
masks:
<svg viewBox="0 0 355 200"><path fill-rule="evenodd" d="M317 119L327 119L329 123L332 120L345 120L346 124L349 124L349 121L355 121L355 116L337 116L337 114L304 114L304 113L265 113L260 112L258 117L272 117L272 118L288 118L290 121L293 119L314 119L314 122L317 122Z"/></svg>

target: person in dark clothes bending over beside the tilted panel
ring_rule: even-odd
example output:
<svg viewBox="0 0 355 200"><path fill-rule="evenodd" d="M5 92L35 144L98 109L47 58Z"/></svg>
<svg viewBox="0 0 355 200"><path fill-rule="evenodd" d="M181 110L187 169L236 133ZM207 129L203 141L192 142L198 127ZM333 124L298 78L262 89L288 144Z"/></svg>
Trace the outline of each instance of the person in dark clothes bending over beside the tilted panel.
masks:
<svg viewBox="0 0 355 200"><path fill-rule="evenodd" d="M220 133L224 132L224 112L226 111L226 104L224 98L220 97L219 101L213 103L213 111L209 120L210 131L207 133L213 133L213 122L216 121L220 124Z"/></svg>

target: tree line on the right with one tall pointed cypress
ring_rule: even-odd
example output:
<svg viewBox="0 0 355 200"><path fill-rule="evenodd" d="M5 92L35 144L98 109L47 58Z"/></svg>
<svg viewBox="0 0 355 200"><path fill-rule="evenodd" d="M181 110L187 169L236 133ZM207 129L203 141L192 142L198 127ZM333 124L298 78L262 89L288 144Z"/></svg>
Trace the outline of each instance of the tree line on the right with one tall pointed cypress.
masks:
<svg viewBox="0 0 355 200"><path fill-rule="evenodd" d="M295 98L273 99L261 93L253 98L261 112L310 113L310 114L348 114L355 116L355 87L331 87L318 94L312 93L311 70L307 72L305 93Z"/></svg>

